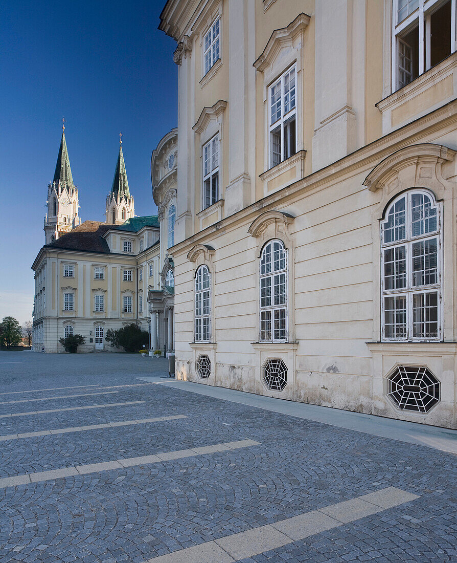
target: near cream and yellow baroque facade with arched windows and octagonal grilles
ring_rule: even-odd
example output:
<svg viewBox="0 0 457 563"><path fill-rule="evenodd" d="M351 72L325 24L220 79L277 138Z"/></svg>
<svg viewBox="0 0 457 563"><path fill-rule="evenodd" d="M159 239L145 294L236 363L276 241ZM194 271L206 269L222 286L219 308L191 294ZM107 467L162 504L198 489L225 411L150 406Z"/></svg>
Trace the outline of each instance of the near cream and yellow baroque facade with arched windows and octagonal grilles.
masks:
<svg viewBox="0 0 457 563"><path fill-rule="evenodd" d="M456 427L456 19L166 2L178 378Z"/></svg>

